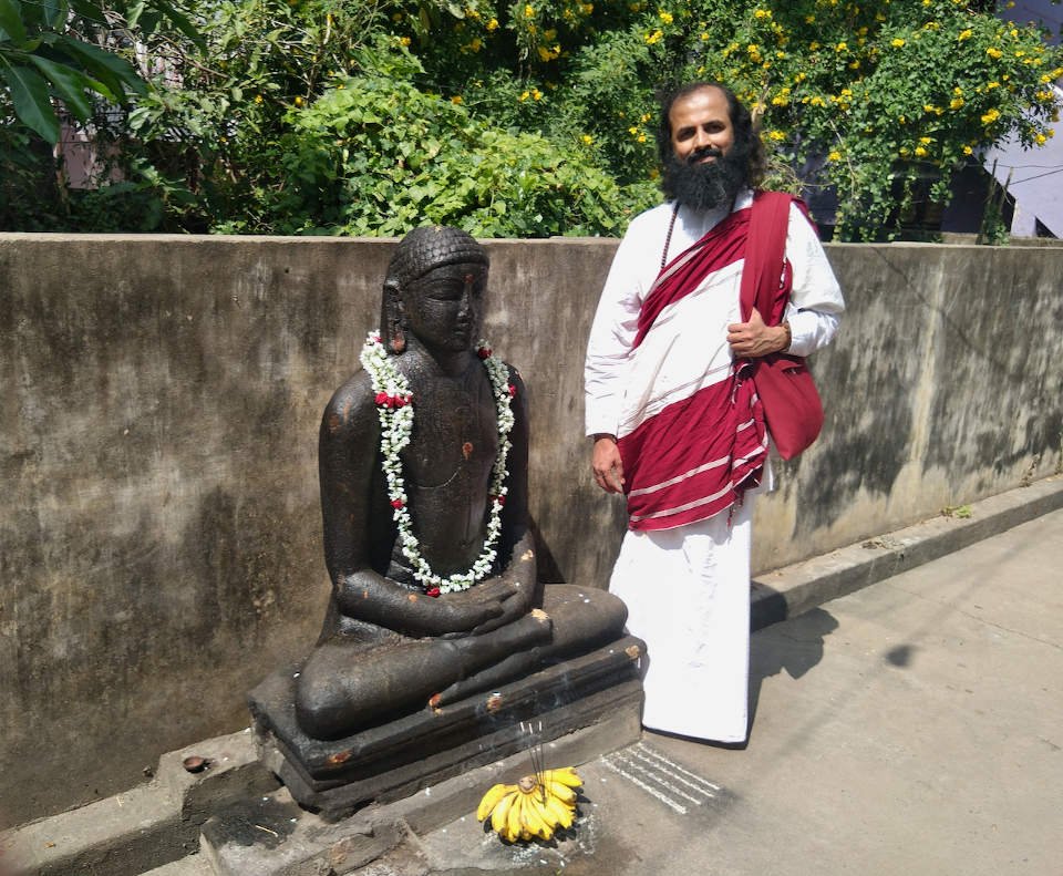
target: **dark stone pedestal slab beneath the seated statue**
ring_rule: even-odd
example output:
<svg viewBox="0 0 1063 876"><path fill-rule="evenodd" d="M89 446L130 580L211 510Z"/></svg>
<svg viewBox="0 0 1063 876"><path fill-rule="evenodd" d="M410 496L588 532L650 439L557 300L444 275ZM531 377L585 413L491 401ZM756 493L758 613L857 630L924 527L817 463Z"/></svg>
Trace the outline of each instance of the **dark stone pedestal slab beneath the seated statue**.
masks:
<svg viewBox="0 0 1063 876"><path fill-rule="evenodd" d="M311 739L296 722L295 668L259 684L249 704L264 763L300 805L336 820L621 712L631 713L637 729L644 653L640 639L622 637L496 690L332 741Z"/></svg>

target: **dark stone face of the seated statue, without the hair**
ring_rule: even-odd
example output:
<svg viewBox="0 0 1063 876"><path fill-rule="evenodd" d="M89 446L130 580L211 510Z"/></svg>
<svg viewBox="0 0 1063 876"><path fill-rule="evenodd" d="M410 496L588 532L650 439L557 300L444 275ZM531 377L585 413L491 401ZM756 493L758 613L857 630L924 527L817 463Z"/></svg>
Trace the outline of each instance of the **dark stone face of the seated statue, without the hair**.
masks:
<svg viewBox="0 0 1063 876"><path fill-rule="evenodd" d="M486 291L486 265L433 268L402 291L410 332L429 349L473 349L483 327Z"/></svg>

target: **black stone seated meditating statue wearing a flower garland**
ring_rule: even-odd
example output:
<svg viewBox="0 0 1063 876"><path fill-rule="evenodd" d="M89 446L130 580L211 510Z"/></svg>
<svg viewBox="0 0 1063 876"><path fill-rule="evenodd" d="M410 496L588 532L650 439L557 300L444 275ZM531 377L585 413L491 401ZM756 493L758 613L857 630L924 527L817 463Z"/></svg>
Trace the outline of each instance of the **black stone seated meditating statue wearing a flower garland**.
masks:
<svg viewBox="0 0 1063 876"><path fill-rule="evenodd" d="M525 388L478 346L487 271L464 231L407 235L363 369L324 411L332 592L295 702L314 739L445 705L621 635L616 597L536 580Z"/></svg>

